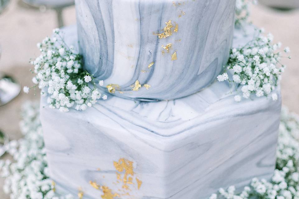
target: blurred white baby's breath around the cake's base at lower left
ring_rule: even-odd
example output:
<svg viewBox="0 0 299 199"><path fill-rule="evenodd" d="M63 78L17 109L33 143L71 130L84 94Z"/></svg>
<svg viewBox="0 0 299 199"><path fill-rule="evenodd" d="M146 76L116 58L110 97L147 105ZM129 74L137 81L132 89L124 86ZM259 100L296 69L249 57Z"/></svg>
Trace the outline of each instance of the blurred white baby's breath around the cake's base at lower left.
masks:
<svg viewBox="0 0 299 199"><path fill-rule="evenodd" d="M5 146L15 161L0 160L4 192L10 194L11 199L73 199L70 194L57 195L55 184L49 178L39 104L24 104L22 118L20 127L24 138Z"/></svg>

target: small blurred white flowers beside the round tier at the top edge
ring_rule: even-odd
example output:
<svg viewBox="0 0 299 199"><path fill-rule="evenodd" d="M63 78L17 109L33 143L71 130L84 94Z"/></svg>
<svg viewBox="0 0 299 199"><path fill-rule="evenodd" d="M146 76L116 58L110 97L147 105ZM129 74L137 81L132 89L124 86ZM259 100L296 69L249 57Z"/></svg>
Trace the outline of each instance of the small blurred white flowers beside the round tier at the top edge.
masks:
<svg viewBox="0 0 299 199"><path fill-rule="evenodd" d="M243 23L247 23L249 17L249 4L257 4L257 0L236 0L235 9L235 25L242 26Z"/></svg>

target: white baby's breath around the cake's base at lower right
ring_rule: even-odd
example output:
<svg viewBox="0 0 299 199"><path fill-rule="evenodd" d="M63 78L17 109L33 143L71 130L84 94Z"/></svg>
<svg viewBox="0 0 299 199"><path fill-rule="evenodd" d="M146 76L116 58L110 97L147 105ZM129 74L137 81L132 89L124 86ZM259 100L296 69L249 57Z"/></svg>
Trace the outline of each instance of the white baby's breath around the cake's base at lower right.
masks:
<svg viewBox="0 0 299 199"><path fill-rule="evenodd" d="M297 138L297 139L296 139ZM219 189L209 199L299 199L299 117L282 110L276 169L270 182L253 178L241 193L235 187Z"/></svg>

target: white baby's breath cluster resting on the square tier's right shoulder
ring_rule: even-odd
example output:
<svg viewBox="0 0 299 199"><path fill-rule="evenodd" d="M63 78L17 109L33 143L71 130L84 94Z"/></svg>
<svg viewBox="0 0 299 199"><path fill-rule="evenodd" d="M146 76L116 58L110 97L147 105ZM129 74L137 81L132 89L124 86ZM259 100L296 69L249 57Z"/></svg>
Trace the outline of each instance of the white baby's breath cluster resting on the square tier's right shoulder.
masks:
<svg viewBox="0 0 299 199"><path fill-rule="evenodd" d="M252 93L257 97L270 95L285 70L285 65L280 64L281 52L277 52L281 44L273 44L273 36L268 34L265 37L261 35L262 32L258 30L255 39L242 48L230 51L227 70L233 72L232 79L226 71L217 76L218 81L227 80L235 86L241 85L242 96L245 99L250 98ZM289 49L286 48L284 52L288 53ZM278 99L276 93L271 96L274 101ZM236 95L235 101L240 102L241 96Z"/></svg>

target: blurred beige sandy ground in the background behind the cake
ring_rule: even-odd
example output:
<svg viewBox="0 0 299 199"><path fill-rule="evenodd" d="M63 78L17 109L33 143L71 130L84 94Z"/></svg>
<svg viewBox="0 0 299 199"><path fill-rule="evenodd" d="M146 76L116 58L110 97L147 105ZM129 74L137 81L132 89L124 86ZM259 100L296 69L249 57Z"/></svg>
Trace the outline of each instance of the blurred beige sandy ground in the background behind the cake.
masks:
<svg viewBox="0 0 299 199"><path fill-rule="evenodd" d="M74 7L64 10L66 25L75 23ZM282 79L283 104L291 111L299 113L299 10L282 12L272 10L262 5L252 7L251 20L254 25L263 27L274 35L275 41L281 41L284 46L291 48L292 59L283 60L287 70ZM13 1L7 11L0 15L0 44L2 56L0 72L13 75L21 84L31 85L32 75L29 59L39 55L36 43L45 36L51 35L56 27L56 15L52 10L40 12L20 6ZM39 100L34 93L21 93L11 103L0 107L0 128L7 132L12 139L21 137L18 123L20 120L21 104L27 100ZM5 158L9 158L5 156ZM3 180L0 180L2 187ZM0 188L0 198L8 199Z"/></svg>

